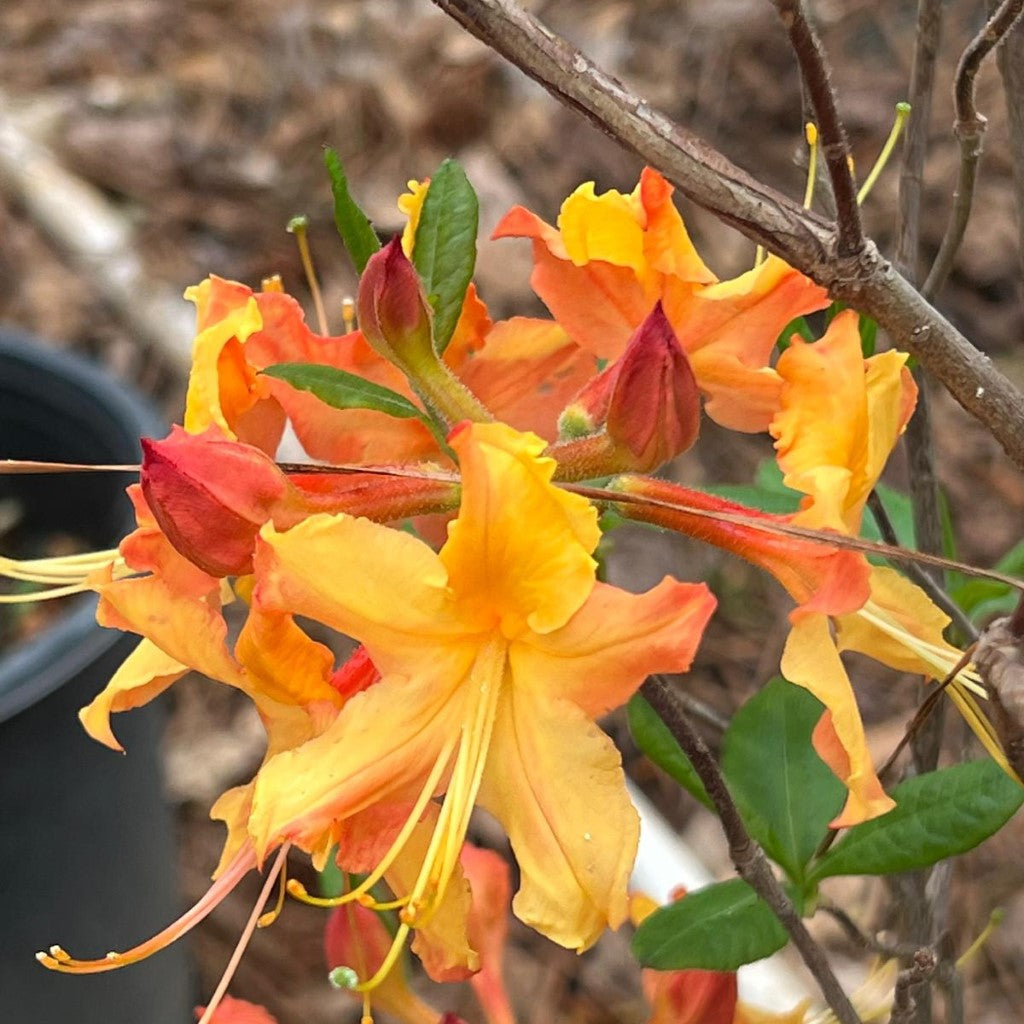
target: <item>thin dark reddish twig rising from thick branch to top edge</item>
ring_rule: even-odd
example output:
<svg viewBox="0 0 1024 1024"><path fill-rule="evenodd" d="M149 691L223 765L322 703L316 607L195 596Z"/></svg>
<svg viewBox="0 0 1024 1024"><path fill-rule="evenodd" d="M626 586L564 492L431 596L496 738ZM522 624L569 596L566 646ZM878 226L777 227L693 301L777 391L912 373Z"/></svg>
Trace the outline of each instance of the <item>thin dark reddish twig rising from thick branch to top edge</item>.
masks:
<svg viewBox="0 0 1024 1024"><path fill-rule="evenodd" d="M836 94L831 87L824 47L807 17L803 0L772 2L790 37L790 45L800 65L807 96L814 109L818 137L821 139L821 156L828 168L833 197L836 200L839 253L850 256L863 248L864 232L860 226L857 186L850 170L850 142L836 110Z"/></svg>

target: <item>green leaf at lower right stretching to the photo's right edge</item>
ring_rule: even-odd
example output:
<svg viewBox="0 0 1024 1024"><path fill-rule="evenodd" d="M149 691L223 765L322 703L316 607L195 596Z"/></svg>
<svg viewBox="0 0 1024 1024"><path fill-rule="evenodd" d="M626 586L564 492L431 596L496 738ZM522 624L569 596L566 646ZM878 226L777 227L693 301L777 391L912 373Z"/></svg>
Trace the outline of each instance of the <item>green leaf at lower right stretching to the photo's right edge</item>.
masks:
<svg viewBox="0 0 1024 1024"><path fill-rule="evenodd" d="M896 807L854 825L817 863L811 880L890 874L974 849L1024 803L1024 788L994 761L969 761L907 779Z"/></svg>

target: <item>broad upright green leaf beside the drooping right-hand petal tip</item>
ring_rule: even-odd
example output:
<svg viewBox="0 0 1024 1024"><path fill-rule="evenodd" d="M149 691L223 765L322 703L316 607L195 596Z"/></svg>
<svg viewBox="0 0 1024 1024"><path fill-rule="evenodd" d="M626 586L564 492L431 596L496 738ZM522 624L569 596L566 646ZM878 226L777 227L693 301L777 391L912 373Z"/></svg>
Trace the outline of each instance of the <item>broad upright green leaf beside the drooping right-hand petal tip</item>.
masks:
<svg viewBox="0 0 1024 1024"><path fill-rule="evenodd" d="M736 712L722 745L722 771L746 827L795 882L846 796L811 745L823 710L776 677Z"/></svg>

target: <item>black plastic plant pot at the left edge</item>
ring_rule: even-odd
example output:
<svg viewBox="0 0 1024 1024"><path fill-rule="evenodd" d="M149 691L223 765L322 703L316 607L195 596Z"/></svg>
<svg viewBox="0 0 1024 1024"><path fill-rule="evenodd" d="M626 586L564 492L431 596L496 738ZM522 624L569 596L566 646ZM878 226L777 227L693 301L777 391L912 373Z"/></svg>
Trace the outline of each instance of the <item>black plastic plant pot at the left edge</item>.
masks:
<svg viewBox="0 0 1024 1024"><path fill-rule="evenodd" d="M0 331L0 458L132 463L160 422L85 361ZM133 518L120 474L9 476L0 499L46 530L116 546ZM67 600L67 599L66 599ZM68 601L44 632L0 651L0 1021L182 1024L184 949L109 974L69 977L34 961L52 943L102 956L181 910L173 823L159 761L162 713L121 716L127 757L89 739L78 710L133 638L94 621L94 597Z"/></svg>

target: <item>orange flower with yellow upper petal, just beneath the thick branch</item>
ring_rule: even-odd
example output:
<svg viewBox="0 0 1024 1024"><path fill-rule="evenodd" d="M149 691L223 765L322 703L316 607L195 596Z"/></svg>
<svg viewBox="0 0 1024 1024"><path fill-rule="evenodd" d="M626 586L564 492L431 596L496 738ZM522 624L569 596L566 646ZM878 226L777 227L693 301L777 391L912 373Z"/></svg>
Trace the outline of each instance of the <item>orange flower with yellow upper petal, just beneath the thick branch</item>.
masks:
<svg viewBox="0 0 1024 1024"><path fill-rule="evenodd" d="M516 207L495 238L534 242L534 290L582 347L617 358L658 300L708 396L712 419L764 430L781 381L769 366L779 333L795 316L828 304L824 290L776 257L718 282L690 242L673 187L645 168L629 196L581 185L558 227Z"/></svg>

